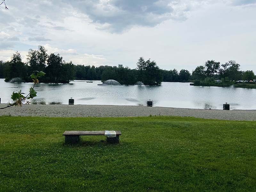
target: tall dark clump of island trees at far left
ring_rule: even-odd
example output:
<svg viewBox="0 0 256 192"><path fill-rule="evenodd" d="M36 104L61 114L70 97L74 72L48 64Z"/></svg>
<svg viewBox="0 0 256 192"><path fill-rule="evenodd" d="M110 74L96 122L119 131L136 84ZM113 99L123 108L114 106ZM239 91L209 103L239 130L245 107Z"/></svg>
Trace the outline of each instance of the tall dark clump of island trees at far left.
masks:
<svg viewBox="0 0 256 192"><path fill-rule="evenodd" d="M30 49L27 55L27 63L22 62L20 53L13 53L10 61L0 61L0 77L5 81L20 77L24 82L31 82L29 74L33 71L44 71L46 73L40 79L44 83L69 83L74 80L75 65L72 62L65 62L59 54L47 54L43 46L38 50Z"/></svg>

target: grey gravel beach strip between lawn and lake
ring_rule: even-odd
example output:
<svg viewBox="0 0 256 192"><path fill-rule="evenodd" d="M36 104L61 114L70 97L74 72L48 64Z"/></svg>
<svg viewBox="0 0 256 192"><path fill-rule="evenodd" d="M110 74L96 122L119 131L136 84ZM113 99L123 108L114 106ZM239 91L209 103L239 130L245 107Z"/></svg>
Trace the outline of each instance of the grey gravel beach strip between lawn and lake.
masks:
<svg viewBox="0 0 256 192"><path fill-rule="evenodd" d="M7 104L0 104L0 108ZM256 110L215 110L118 105L23 105L0 109L0 116L134 117L182 116L204 119L256 120Z"/></svg>

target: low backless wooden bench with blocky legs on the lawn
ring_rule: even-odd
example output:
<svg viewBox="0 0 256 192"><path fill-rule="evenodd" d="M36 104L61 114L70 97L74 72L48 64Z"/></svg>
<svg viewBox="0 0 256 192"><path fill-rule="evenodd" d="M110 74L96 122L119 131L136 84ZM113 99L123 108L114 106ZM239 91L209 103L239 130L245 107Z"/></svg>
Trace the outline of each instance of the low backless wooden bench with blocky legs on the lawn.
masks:
<svg viewBox="0 0 256 192"><path fill-rule="evenodd" d="M65 131L65 143L78 143L80 135L105 135L105 131ZM108 143L119 143L121 131L116 131L116 137L107 137Z"/></svg>

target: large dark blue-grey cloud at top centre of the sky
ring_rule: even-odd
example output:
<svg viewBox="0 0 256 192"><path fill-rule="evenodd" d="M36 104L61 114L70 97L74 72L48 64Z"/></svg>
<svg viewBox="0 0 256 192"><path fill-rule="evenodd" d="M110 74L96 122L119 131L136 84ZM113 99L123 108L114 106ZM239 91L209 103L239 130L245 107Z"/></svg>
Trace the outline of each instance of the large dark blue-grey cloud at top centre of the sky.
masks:
<svg viewBox="0 0 256 192"><path fill-rule="evenodd" d="M133 26L154 27L164 20L185 20L189 9L177 4L179 1L174 0L88 0L73 1L71 6L88 15L97 29L121 33Z"/></svg>

